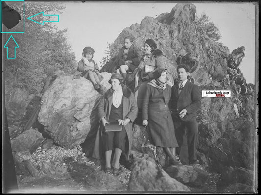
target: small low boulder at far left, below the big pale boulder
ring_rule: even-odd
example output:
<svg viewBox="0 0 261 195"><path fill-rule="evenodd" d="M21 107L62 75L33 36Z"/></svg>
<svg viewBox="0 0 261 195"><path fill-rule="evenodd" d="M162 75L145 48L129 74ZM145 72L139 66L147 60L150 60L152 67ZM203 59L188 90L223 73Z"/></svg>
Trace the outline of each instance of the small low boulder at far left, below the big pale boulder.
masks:
<svg viewBox="0 0 261 195"><path fill-rule="evenodd" d="M29 129L11 140L12 151L29 150L33 153L44 141L42 134L35 129Z"/></svg>

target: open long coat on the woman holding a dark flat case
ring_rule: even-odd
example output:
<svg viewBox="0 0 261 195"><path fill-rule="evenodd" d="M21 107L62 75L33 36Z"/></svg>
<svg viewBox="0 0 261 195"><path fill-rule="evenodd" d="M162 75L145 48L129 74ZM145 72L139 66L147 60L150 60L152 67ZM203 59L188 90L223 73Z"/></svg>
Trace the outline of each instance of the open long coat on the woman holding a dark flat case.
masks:
<svg viewBox="0 0 261 195"><path fill-rule="evenodd" d="M122 85L123 87L123 112L122 112L122 119L129 118L130 122L125 126L126 132L127 132L127 142L126 142L126 151L122 151L126 154L126 157L128 159L130 150L131 150L131 144L132 144L132 122L137 117L137 103L135 100L135 97L131 90ZM101 99L99 106L98 106L98 118L99 122L103 117L105 117L106 121L109 121L111 107L112 107L112 96L113 96L113 89L109 89ZM95 146L93 150L93 158L100 159L100 155L105 155L105 153L102 151L102 143L101 143L101 136L102 136L102 130L103 130L102 124L100 124L100 127L97 131L96 138L95 138Z"/></svg>

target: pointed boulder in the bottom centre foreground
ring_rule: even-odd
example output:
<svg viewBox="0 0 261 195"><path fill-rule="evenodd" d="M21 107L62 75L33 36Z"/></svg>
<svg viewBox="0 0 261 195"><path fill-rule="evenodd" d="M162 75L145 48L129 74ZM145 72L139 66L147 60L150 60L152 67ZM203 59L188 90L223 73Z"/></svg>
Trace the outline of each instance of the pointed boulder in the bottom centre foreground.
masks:
<svg viewBox="0 0 261 195"><path fill-rule="evenodd" d="M190 189L171 178L147 154L137 157L134 161L129 191L162 191L188 192Z"/></svg>

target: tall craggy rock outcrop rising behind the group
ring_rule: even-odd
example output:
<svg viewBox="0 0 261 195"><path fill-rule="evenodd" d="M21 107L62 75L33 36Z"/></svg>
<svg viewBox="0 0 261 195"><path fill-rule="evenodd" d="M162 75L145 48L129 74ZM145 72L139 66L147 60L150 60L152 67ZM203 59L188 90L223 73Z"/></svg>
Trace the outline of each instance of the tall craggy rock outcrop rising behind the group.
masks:
<svg viewBox="0 0 261 195"><path fill-rule="evenodd" d="M140 24L123 29L114 44L122 44L125 36L132 35L136 38L134 44L142 48L146 39L154 39L157 49L163 51L167 70L173 77L168 83L173 84L177 79L176 67L185 63L190 68L189 80L199 85L200 90L231 90L231 98L202 98L197 116L197 157L203 168L219 173L230 166L253 170L256 145L254 85L246 83L238 68L245 48L241 46L230 53L221 43L198 32L195 13L195 5L177 4L170 13L157 18L146 16ZM155 152L151 149L153 146L149 147L145 142L147 138L135 138L139 133L146 136L141 128L134 127L133 148L153 157ZM154 159L164 157L158 155ZM186 159L181 160L187 163Z"/></svg>

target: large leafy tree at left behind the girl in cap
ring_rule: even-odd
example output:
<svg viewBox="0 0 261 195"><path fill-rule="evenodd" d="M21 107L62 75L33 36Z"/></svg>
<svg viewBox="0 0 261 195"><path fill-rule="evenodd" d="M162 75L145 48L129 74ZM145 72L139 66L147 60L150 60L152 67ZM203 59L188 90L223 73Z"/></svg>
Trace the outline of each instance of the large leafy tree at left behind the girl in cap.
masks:
<svg viewBox="0 0 261 195"><path fill-rule="evenodd" d="M21 4L11 7L23 13ZM53 72L73 73L75 55L67 44L67 29L58 30L53 23L41 25L27 19L43 11L44 14L61 14L64 9L61 3L25 2L25 33L13 34L19 48L16 59L8 59L6 65L6 80L13 80L8 82L13 87L24 87L29 93L37 94L42 90L45 78ZM43 20L43 16L39 15L39 18ZM16 30L23 31L23 18Z"/></svg>

